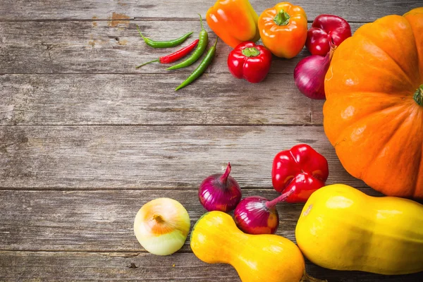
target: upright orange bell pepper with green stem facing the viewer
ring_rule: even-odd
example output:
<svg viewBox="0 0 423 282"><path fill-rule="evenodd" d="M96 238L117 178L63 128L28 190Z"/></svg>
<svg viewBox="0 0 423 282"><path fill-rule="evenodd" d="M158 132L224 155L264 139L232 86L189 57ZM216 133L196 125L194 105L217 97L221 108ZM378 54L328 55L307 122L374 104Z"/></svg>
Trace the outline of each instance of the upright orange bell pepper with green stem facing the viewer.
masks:
<svg viewBox="0 0 423 282"><path fill-rule="evenodd" d="M288 2L264 10L259 17L262 42L275 56L297 56L307 39L307 15L300 6Z"/></svg>

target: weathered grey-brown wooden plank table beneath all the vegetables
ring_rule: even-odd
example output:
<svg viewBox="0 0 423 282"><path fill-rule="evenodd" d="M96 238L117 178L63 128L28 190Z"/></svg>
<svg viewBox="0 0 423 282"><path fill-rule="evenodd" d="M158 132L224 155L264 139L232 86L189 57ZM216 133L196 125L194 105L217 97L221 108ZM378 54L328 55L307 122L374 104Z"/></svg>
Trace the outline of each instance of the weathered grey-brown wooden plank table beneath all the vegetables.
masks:
<svg viewBox="0 0 423 282"><path fill-rule="evenodd" d="M230 48L221 41L207 73L179 92L173 89L195 66L135 70L171 51L147 47L135 25L154 39L197 35L197 13L204 16L213 3L1 1L0 281L238 281L231 266L197 259L189 242L168 257L145 252L133 235L135 214L149 200L171 197L195 223L204 213L198 185L228 161L245 196L276 197L271 161L300 142L329 160L327 183L379 195L339 163L322 128L324 102L296 90L293 69L307 51L275 59L258 85L228 73ZM276 3L252 1L258 13ZM309 23L333 13L353 30L421 6L418 0L295 4ZM301 209L278 207L279 235L295 240ZM309 262L307 271L330 282L423 281L422 274L330 271Z"/></svg>

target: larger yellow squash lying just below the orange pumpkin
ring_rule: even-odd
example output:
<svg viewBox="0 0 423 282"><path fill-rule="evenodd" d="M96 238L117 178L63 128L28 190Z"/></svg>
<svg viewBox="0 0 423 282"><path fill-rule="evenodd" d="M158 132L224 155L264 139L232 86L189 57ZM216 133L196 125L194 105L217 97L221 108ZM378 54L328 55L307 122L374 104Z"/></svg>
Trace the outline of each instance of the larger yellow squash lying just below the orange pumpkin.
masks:
<svg viewBox="0 0 423 282"><path fill-rule="evenodd" d="M307 259L328 269L423 271L423 205L412 200L329 185L309 197L295 237Z"/></svg>

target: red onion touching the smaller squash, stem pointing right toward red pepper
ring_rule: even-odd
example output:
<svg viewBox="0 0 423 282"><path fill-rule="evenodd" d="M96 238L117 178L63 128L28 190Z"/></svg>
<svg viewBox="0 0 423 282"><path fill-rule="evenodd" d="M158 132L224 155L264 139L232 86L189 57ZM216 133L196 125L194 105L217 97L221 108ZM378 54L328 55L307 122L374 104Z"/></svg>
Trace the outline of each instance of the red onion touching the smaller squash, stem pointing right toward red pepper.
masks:
<svg viewBox="0 0 423 282"><path fill-rule="evenodd" d="M233 213L236 225L248 234L274 234L279 226L276 204L292 193L293 190L290 190L271 201L259 196L246 197Z"/></svg>

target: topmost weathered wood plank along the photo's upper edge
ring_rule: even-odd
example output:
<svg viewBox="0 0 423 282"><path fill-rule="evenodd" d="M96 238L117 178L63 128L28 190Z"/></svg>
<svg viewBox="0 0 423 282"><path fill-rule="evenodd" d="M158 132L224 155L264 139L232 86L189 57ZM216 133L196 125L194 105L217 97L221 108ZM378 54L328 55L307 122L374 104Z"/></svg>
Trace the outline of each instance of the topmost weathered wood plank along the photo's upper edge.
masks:
<svg viewBox="0 0 423 282"><path fill-rule="evenodd" d="M92 19L111 20L113 13L128 18L195 18L197 13L206 13L215 0L3 0L0 6L1 20L33 19ZM257 13L274 6L271 0L251 0ZM350 21L373 21L381 16L396 13L402 15L411 8L421 6L418 0L329 0L316 2L298 0L295 4L305 9L310 20L321 13L332 13ZM174 8L169 8L174 7ZM116 15L115 14L115 15ZM115 16L116 18L116 16Z"/></svg>

